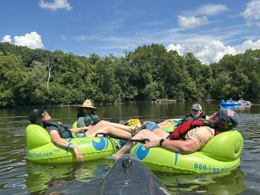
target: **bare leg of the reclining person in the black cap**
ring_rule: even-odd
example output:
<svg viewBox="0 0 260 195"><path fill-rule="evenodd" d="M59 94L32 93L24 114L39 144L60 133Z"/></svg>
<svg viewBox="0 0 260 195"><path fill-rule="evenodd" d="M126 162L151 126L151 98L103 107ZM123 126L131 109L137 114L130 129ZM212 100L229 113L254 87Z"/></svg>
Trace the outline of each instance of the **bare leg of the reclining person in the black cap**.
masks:
<svg viewBox="0 0 260 195"><path fill-rule="evenodd" d="M129 133L127 131L123 131L122 129L113 127L109 124L102 125L102 126L100 126L99 129L96 129L96 128L94 129L94 127L93 127L90 130L86 131L85 134L88 137L94 137L97 133L113 134L118 137L127 138L127 139L130 139L132 137L131 133Z"/></svg>

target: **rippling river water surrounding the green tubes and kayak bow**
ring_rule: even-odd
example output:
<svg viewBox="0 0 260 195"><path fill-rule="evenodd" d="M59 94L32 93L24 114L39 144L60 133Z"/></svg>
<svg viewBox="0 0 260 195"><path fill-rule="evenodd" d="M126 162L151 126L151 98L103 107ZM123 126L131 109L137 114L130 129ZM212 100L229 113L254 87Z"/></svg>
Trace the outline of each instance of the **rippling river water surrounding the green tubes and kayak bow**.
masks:
<svg viewBox="0 0 260 195"><path fill-rule="evenodd" d="M154 172L172 194L257 195L260 194L260 99L250 99L252 106L236 106L240 116L236 128L244 139L238 168L215 174L177 175ZM120 117L157 121L180 118L189 113L194 102L130 103L97 105L100 118ZM203 111L213 114L219 102L199 102ZM0 109L0 195L88 195L113 166L113 159L78 163L40 164L25 159L25 128L28 115L37 107ZM75 106L49 107L54 121L71 127L77 119ZM137 178L138 179L138 178Z"/></svg>

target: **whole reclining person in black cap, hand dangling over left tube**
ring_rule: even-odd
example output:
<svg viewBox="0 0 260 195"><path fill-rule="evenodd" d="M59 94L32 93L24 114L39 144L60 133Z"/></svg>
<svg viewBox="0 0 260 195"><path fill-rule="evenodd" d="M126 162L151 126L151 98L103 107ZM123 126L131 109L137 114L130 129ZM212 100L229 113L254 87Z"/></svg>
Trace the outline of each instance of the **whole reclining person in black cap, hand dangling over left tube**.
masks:
<svg viewBox="0 0 260 195"><path fill-rule="evenodd" d="M46 107L44 106L41 109L33 110L29 115L29 120L32 124L43 127L56 145L73 149L79 162L83 160L83 156L75 145L66 140L67 138L78 137L77 134L81 131L86 131L84 134L86 137L94 137L97 133L107 133L118 137L131 138L145 128L146 125L146 123L144 123L139 126L125 126L101 120L95 126L69 129L63 126L61 122L51 122L51 116L45 109Z"/></svg>

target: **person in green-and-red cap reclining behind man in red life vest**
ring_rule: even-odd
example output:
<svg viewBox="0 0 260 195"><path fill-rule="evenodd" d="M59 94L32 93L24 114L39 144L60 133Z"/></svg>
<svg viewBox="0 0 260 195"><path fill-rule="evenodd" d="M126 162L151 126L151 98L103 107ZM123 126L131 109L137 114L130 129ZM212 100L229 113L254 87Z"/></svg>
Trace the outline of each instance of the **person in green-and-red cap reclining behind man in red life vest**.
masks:
<svg viewBox="0 0 260 195"><path fill-rule="evenodd" d="M203 113L202 107L200 106L200 104L195 103L191 107L191 113L187 114L183 119L179 120L177 126L179 126L180 124L182 124L186 121L195 120L195 119L199 119L199 118L205 119L206 115ZM174 118L164 120L163 122L159 123L158 126L160 128L166 127L166 126L174 126L175 120L176 119L174 119Z"/></svg>

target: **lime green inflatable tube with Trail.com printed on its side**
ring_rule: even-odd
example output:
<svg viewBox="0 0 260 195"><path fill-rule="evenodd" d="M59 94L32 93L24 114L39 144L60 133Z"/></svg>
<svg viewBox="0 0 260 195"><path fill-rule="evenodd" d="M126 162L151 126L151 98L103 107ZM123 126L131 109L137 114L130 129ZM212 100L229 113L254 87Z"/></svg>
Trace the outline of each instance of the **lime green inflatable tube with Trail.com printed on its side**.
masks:
<svg viewBox="0 0 260 195"><path fill-rule="evenodd" d="M84 161L112 156L117 152L120 142L107 137L83 137L67 139L76 145L84 157ZM76 162L72 149L55 145L48 132L39 125L26 128L26 158L34 162L63 163Z"/></svg>

